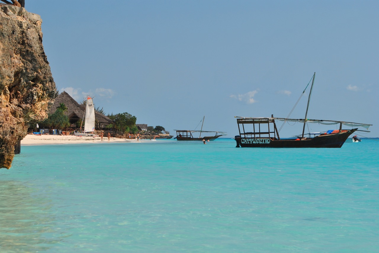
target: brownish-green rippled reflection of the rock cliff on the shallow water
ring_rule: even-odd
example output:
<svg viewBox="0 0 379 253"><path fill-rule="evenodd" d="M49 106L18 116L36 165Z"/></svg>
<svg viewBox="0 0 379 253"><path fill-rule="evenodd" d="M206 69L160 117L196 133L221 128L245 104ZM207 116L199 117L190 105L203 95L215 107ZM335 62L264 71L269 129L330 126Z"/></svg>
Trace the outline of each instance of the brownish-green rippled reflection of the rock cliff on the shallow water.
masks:
<svg viewBox="0 0 379 253"><path fill-rule="evenodd" d="M56 243L51 200L39 195L21 182L0 180L0 252L45 251Z"/></svg>

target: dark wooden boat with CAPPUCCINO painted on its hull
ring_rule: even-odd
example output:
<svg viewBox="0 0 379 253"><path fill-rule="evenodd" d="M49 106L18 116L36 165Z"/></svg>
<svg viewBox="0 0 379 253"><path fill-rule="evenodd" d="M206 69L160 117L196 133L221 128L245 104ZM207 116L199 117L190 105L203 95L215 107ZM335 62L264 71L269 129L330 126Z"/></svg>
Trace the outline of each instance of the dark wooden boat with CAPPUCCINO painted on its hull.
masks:
<svg viewBox="0 0 379 253"><path fill-rule="evenodd" d="M345 121L307 119L309 101L312 94L315 75L316 73L314 73L312 78L312 86L309 92L307 110L305 112L304 119L274 118L273 115L269 118L235 117L237 118L238 130L240 132L240 135L236 135L234 137L237 144L236 147L341 147L349 135L358 130L358 128L345 130L342 129L342 125L350 127L365 127L366 129L371 126L371 124L360 124ZM276 121L304 123L302 134L294 138L280 139L279 131L276 127ZM329 130L327 132L312 133L313 137L311 134L309 134L309 137L304 137L305 123L318 123L325 125L339 124L340 128L338 130Z"/></svg>

